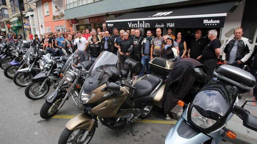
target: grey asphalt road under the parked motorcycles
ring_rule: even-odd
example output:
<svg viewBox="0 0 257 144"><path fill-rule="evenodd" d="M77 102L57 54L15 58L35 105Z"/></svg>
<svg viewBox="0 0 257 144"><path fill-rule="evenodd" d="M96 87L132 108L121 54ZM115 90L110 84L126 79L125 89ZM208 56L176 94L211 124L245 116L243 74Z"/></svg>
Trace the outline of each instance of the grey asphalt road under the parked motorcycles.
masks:
<svg viewBox="0 0 257 144"><path fill-rule="evenodd" d="M39 100L28 99L24 94L25 88L18 87L13 80L7 79L3 70L0 70L0 86L1 144L58 143L59 136L69 119L42 119L39 111L46 97ZM52 91L53 89L48 94L51 94ZM57 114L77 115L82 110L82 108L76 107L72 99L69 99ZM147 119L167 122L158 111L153 112ZM174 124L134 122L133 127L127 125L125 129L112 130L98 122L98 129L96 129L91 143L163 144L169 129L173 126ZM221 142L221 144L225 144L225 142ZM227 142L226 144L232 143Z"/></svg>

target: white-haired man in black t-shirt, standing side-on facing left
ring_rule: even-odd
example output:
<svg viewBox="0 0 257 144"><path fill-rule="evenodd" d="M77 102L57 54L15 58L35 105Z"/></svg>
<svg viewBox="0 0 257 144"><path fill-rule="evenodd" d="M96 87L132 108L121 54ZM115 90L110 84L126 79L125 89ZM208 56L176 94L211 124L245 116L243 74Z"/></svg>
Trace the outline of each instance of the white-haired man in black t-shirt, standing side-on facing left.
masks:
<svg viewBox="0 0 257 144"><path fill-rule="evenodd" d="M220 58L220 40L217 39L217 31L212 29L208 31L208 38L211 40L204 48L202 55L197 60L202 59L203 64L207 68L209 79L212 78L213 72Z"/></svg>

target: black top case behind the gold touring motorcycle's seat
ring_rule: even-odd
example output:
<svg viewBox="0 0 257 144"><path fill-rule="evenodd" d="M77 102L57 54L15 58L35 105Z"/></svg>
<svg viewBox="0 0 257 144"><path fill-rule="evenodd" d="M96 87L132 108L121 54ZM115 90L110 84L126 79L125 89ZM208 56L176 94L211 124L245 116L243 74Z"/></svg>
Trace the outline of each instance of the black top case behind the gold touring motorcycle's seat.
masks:
<svg viewBox="0 0 257 144"><path fill-rule="evenodd" d="M169 75L174 67L174 62L166 60L165 58L155 57L149 62L149 65L152 74L164 77Z"/></svg>

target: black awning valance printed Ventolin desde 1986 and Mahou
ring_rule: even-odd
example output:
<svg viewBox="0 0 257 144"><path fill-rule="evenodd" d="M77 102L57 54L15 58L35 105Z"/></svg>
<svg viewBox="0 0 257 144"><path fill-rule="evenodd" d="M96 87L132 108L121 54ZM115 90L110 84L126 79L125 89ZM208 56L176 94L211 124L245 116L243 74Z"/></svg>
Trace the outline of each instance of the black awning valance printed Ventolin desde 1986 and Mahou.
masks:
<svg viewBox="0 0 257 144"><path fill-rule="evenodd" d="M221 28L225 17L198 17L180 19L153 19L112 22L107 21L108 28Z"/></svg>

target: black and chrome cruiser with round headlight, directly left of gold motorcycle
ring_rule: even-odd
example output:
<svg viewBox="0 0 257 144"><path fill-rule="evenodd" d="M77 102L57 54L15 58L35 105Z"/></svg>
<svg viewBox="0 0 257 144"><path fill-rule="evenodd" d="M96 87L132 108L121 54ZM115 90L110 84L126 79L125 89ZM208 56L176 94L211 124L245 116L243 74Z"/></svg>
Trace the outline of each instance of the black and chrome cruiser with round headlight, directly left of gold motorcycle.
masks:
<svg viewBox="0 0 257 144"><path fill-rule="evenodd" d="M55 91L46 98L46 102L40 110L41 118L51 118L61 109L69 97L72 97L75 104L80 107L78 102L79 91L84 83L89 68L93 64L93 61L85 61L77 65L77 58L77 52L74 52L68 60L62 59L62 61L67 60L65 65L62 67L64 77Z"/></svg>

